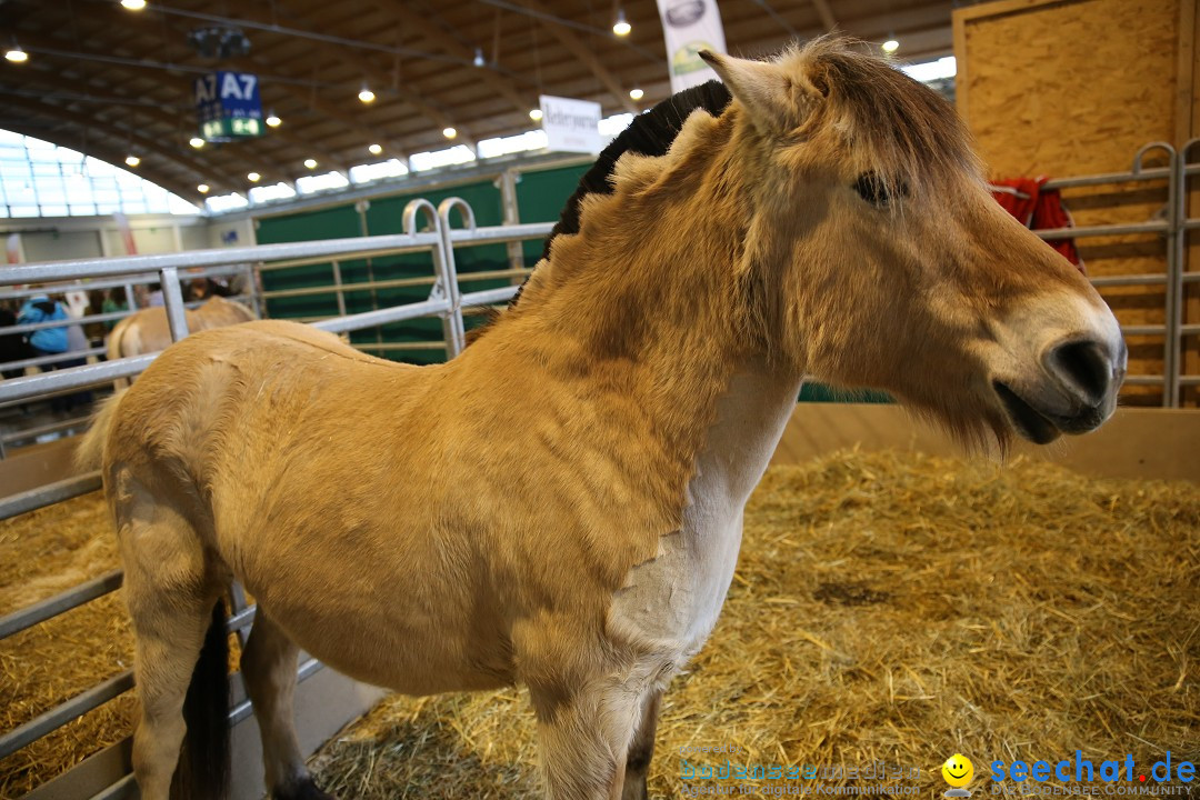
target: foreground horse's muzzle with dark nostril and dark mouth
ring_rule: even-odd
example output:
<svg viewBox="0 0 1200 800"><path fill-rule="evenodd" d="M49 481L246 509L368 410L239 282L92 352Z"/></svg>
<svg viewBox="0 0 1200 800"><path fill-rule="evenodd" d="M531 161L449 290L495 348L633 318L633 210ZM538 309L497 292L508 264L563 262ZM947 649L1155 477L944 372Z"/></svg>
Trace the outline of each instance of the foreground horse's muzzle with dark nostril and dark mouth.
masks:
<svg viewBox="0 0 1200 800"><path fill-rule="evenodd" d="M1112 416L1126 375L1124 339L1072 338L1045 349L1033 380L992 380L1013 428L1044 445L1094 431Z"/></svg>

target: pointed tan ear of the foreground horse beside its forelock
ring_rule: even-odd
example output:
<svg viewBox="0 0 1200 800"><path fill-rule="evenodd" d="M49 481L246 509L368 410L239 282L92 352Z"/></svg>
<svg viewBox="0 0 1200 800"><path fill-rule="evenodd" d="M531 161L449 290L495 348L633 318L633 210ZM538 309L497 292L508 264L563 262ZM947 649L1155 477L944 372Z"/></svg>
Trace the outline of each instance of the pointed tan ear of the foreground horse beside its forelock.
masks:
<svg viewBox="0 0 1200 800"><path fill-rule="evenodd" d="M701 50L698 55L742 101L755 124L770 131L797 127L808 116L811 103L824 95L773 61L736 59L710 50Z"/></svg>

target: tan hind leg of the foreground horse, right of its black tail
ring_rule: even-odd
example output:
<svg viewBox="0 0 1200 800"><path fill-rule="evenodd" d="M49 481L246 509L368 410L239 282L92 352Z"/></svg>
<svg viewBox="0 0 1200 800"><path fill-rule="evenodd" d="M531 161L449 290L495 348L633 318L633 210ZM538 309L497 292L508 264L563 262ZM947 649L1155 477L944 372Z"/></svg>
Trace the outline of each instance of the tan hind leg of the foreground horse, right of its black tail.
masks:
<svg viewBox="0 0 1200 800"><path fill-rule="evenodd" d="M241 672L263 739L266 788L274 800L334 800L313 783L296 739L293 698L299 652L259 607L241 655Z"/></svg>

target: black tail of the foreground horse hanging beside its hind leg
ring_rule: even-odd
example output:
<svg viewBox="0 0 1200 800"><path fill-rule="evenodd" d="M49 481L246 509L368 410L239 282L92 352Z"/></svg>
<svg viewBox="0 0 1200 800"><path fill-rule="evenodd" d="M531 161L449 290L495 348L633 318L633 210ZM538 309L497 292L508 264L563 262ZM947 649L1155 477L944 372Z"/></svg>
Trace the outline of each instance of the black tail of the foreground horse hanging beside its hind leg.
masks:
<svg viewBox="0 0 1200 800"><path fill-rule="evenodd" d="M184 698L187 735L172 780L175 800L224 800L229 796L229 634L224 601L212 607L212 621L192 669Z"/></svg>

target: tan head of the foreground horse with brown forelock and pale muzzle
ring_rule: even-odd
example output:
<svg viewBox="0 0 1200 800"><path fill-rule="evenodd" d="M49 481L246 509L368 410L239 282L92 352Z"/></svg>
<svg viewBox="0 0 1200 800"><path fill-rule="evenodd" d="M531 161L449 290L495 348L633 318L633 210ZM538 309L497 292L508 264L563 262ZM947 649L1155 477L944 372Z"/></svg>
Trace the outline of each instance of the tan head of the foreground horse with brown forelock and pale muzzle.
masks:
<svg viewBox="0 0 1200 800"><path fill-rule="evenodd" d="M1117 320L991 198L949 103L844 40L704 58L754 176L744 293L768 350L971 444L1044 444L1112 414Z"/></svg>

